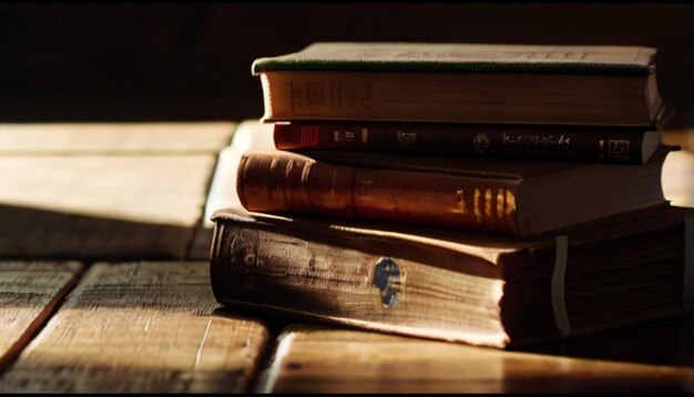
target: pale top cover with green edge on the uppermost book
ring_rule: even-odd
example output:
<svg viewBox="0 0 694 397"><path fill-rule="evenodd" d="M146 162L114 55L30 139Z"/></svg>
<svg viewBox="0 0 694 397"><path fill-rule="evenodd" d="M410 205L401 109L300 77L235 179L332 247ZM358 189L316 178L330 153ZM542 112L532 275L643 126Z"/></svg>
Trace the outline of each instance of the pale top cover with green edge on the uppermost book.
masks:
<svg viewBox="0 0 694 397"><path fill-rule="evenodd" d="M259 58L253 74L277 71L565 73L647 75L661 51L630 45L319 42Z"/></svg>

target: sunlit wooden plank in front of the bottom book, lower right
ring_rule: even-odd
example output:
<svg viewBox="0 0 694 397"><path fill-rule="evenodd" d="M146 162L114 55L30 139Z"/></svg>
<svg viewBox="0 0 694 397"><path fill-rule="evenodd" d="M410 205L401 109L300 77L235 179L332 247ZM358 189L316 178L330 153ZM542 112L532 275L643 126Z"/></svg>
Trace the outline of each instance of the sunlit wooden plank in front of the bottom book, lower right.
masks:
<svg viewBox="0 0 694 397"><path fill-rule="evenodd" d="M376 333L292 327L257 391L694 391L694 368L497 350Z"/></svg>

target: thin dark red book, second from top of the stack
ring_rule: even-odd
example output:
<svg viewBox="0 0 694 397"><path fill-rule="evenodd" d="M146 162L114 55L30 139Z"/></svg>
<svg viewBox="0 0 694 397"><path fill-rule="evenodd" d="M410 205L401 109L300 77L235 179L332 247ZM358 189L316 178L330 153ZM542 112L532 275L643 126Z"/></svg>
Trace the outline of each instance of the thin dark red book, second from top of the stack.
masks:
<svg viewBox="0 0 694 397"><path fill-rule="evenodd" d="M643 164L659 129L579 125L317 121L274 123L279 150L334 150Z"/></svg>

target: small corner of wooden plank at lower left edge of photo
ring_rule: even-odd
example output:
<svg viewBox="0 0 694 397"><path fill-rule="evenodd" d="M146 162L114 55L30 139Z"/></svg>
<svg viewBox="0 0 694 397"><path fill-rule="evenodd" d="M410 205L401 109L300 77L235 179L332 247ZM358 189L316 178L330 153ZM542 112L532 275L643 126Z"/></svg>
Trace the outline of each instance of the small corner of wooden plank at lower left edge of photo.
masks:
<svg viewBox="0 0 694 397"><path fill-rule="evenodd" d="M0 262L0 368L45 324L82 269L75 262Z"/></svg>

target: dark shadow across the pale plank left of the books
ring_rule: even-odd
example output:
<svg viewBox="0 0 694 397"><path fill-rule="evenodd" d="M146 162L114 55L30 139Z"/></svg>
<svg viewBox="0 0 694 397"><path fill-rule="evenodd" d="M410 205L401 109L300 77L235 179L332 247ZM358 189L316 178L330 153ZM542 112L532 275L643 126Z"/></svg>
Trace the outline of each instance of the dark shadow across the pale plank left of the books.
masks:
<svg viewBox="0 0 694 397"><path fill-rule="evenodd" d="M194 227L132 222L0 204L3 259L185 258Z"/></svg>

